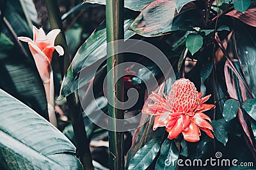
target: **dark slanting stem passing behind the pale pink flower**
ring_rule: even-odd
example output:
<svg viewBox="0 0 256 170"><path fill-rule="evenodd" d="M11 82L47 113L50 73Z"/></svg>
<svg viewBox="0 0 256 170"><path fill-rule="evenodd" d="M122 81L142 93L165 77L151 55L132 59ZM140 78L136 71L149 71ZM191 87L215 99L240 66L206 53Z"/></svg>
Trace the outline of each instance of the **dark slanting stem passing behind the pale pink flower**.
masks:
<svg viewBox="0 0 256 170"><path fill-rule="evenodd" d="M63 24L61 22L60 9L56 0L45 0L45 4L51 29L61 29L61 34L57 36L55 42L58 45L63 46L65 52L64 59L63 57L59 57L61 76L63 77L70 64L70 59L67 41L65 39L65 33L63 31ZM79 114L79 109L77 106L79 101L77 98L78 97L76 97L76 94L74 93L70 94L70 96L67 97L68 112L70 113L71 122L74 129L74 135L77 142L77 157L79 157L79 159L81 160L84 169L89 170L93 169L92 155L89 148L90 143L88 141L84 128L83 116L82 114Z"/></svg>

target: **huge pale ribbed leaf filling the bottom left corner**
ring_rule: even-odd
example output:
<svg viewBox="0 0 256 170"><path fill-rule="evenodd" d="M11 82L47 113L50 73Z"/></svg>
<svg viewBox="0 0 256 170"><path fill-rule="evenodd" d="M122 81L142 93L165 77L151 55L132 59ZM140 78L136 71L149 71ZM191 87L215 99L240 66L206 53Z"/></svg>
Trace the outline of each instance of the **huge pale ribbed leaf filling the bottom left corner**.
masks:
<svg viewBox="0 0 256 170"><path fill-rule="evenodd" d="M83 169L68 139L35 111L0 90L0 164L8 169Z"/></svg>

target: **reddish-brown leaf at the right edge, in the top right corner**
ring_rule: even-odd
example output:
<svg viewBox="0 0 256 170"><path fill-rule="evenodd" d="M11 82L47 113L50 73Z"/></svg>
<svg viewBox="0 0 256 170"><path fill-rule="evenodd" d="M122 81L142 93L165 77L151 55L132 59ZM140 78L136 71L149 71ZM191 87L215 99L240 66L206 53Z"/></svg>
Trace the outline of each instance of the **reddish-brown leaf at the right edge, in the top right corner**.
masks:
<svg viewBox="0 0 256 170"><path fill-rule="evenodd" d="M244 13L241 13L240 11L237 11L237 10L232 10L228 12L226 15L237 18L241 20L241 22L244 22L245 24L256 27L255 13L256 13L256 8L255 6L253 6L253 8L249 8L248 10L244 11Z"/></svg>

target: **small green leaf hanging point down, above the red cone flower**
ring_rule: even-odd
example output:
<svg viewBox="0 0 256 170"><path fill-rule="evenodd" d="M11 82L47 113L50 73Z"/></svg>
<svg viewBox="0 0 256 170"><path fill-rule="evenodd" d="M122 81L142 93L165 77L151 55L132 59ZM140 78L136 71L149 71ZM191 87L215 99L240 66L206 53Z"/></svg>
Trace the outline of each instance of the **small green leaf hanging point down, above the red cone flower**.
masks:
<svg viewBox="0 0 256 170"><path fill-rule="evenodd" d="M186 47L192 55L198 52L204 44L204 38L200 34L189 34L186 39Z"/></svg>

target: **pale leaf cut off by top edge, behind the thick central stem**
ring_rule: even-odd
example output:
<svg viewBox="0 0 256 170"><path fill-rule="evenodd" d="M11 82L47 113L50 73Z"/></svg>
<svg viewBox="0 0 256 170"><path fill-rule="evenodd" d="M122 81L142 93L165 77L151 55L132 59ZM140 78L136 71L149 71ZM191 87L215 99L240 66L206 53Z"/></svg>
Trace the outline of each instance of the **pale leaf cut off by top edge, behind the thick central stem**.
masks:
<svg viewBox="0 0 256 170"><path fill-rule="evenodd" d="M106 0L84 0L86 3L106 4ZM155 0L125 0L124 7L134 11L141 11Z"/></svg>

